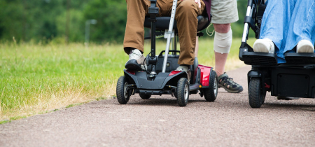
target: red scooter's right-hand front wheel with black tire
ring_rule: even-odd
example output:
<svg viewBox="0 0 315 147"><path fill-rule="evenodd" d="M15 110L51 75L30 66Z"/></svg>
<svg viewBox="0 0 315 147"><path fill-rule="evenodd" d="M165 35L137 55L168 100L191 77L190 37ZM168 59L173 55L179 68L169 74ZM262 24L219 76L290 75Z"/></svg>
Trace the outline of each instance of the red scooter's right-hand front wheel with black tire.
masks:
<svg viewBox="0 0 315 147"><path fill-rule="evenodd" d="M189 100L189 83L187 78L179 79L176 88L176 100L179 106L186 106Z"/></svg>

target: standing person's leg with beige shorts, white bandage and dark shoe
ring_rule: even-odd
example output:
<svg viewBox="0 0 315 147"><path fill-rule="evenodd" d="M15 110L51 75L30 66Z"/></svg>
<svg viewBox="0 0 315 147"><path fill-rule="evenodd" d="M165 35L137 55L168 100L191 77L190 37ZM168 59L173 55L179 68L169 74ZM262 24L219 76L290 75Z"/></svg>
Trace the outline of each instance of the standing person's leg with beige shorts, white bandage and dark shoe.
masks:
<svg viewBox="0 0 315 147"><path fill-rule="evenodd" d="M218 75L218 87L223 87L228 92L238 93L243 91L243 87L235 83L232 78L225 73L225 63L232 44L232 30L230 23L239 20L237 13L237 1L212 0L211 14L214 24L214 56L215 71Z"/></svg>

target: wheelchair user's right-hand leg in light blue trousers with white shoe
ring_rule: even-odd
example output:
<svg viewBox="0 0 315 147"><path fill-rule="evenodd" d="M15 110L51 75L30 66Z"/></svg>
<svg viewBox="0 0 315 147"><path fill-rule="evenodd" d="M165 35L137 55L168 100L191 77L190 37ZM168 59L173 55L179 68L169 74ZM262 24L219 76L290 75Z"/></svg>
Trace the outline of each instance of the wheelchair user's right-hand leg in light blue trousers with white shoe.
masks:
<svg viewBox="0 0 315 147"><path fill-rule="evenodd" d="M315 1L295 1L283 52L293 51L292 49L297 45L297 52L313 53L315 42Z"/></svg>

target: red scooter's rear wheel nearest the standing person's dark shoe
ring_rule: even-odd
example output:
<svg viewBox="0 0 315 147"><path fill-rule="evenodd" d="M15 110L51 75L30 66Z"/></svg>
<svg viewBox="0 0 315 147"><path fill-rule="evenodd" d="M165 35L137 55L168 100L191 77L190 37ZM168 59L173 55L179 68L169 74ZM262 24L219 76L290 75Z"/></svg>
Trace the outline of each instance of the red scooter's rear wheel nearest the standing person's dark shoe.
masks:
<svg viewBox="0 0 315 147"><path fill-rule="evenodd" d="M216 71L211 71L209 88L205 88L203 90L204 99L206 99L207 102L214 102L216 100L216 97L218 96L218 76L216 75Z"/></svg>

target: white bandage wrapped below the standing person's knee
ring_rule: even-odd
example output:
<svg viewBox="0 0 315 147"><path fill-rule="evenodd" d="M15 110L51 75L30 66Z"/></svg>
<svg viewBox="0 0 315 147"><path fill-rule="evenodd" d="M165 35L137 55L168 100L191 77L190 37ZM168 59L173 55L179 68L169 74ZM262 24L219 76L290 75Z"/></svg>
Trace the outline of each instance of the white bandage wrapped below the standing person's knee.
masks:
<svg viewBox="0 0 315 147"><path fill-rule="evenodd" d="M214 51L223 53L229 53L232 45L232 29L228 33L214 34Z"/></svg>

